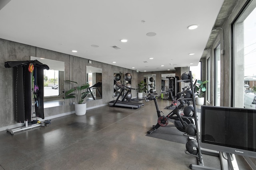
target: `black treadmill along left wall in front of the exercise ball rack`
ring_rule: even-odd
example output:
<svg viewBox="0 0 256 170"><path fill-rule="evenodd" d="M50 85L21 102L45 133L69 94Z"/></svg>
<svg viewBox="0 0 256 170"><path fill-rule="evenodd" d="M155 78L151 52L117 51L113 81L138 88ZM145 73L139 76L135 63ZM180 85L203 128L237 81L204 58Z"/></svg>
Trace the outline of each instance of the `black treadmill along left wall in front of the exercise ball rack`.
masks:
<svg viewBox="0 0 256 170"><path fill-rule="evenodd" d="M122 90L121 90L120 94L118 95L118 97L116 98L116 100L112 100L109 102L110 106L132 107L132 108L139 108L141 106L144 106L144 103L124 101L128 92L130 92L130 90L135 90L135 88L127 87L124 84L121 84L121 83L119 84L118 82L115 82L115 84ZM122 95L122 93L124 92L124 90L127 90L127 92L124 94L123 99L118 100L120 98L120 96Z"/></svg>

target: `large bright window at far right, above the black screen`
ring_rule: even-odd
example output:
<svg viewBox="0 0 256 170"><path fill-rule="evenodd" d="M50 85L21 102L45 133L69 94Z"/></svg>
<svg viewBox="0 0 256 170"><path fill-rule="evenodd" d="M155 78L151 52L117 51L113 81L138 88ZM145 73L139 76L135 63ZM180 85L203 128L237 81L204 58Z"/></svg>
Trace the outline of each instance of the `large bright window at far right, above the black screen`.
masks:
<svg viewBox="0 0 256 170"><path fill-rule="evenodd" d="M256 0L247 4L232 25L233 32L233 96L232 106L245 107L256 92Z"/></svg>

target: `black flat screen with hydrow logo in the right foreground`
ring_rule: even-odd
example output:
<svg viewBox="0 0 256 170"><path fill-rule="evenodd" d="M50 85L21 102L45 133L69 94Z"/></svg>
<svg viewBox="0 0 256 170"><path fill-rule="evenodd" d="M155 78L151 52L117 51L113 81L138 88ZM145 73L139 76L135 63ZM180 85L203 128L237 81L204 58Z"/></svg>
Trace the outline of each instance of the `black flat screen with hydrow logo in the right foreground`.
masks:
<svg viewBox="0 0 256 170"><path fill-rule="evenodd" d="M256 109L202 106L200 146L256 158Z"/></svg>

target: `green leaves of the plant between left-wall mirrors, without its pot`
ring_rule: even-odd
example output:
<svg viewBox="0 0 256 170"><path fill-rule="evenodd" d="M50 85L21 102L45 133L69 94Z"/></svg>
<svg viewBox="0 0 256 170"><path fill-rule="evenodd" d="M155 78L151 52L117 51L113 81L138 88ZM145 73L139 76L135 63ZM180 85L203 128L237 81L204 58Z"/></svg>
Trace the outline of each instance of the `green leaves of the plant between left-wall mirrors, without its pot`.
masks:
<svg viewBox="0 0 256 170"><path fill-rule="evenodd" d="M73 82L70 80L65 80L65 81ZM73 83L76 83L77 86L75 88L68 90L65 93L65 99L76 98L77 103L82 104L84 102L84 98L87 96L88 93L90 93L87 91L87 88L90 87L90 85L87 83L87 84L82 84L81 86L79 86L79 84L77 82L73 82ZM74 91L76 93L73 93Z"/></svg>

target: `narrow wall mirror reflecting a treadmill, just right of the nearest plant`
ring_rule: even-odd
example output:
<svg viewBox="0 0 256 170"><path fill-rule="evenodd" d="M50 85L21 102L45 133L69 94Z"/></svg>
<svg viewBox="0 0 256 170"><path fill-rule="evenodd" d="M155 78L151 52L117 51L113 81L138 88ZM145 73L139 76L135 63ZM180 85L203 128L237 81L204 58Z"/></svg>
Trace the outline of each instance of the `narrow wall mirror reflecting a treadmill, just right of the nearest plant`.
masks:
<svg viewBox="0 0 256 170"><path fill-rule="evenodd" d="M102 68L86 66L86 74L90 84L86 101L102 99Z"/></svg>

